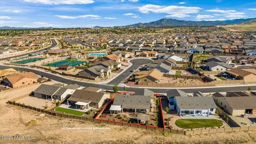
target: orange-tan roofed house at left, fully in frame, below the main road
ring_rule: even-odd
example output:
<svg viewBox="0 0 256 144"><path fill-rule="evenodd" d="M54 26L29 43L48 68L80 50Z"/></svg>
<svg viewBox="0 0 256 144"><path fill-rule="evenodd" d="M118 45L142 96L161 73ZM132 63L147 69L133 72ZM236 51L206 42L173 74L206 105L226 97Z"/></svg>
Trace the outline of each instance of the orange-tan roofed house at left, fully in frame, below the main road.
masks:
<svg viewBox="0 0 256 144"><path fill-rule="evenodd" d="M4 85L10 87L19 87L23 85L33 84L37 82L37 76L35 73L13 73L6 76L4 79Z"/></svg>

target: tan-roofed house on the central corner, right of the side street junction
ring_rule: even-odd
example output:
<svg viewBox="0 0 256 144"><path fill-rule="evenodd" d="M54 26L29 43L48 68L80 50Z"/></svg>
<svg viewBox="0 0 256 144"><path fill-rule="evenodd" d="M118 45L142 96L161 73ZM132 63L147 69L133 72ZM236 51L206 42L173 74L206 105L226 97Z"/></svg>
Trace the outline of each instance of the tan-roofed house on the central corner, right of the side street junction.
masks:
<svg viewBox="0 0 256 144"><path fill-rule="evenodd" d="M163 78L163 73L154 69L150 71L139 71L135 73L135 82L159 83Z"/></svg>

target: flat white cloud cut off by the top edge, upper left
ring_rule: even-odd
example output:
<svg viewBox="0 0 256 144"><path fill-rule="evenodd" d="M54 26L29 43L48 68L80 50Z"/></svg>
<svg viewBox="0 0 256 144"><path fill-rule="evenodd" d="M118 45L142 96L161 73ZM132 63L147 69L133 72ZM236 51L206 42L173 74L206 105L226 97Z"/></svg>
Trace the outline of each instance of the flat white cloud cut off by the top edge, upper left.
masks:
<svg viewBox="0 0 256 144"><path fill-rule="evenodd" d="M24 0L30 3L43 3L43 4L91 4L92 0Z"/></svg>

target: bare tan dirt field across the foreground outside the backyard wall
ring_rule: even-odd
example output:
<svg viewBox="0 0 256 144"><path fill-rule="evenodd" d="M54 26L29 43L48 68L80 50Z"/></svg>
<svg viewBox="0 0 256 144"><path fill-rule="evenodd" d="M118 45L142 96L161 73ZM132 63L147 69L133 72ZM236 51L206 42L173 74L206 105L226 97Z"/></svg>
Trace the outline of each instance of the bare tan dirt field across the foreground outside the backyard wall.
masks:
<svg viewBox="0 0 256 144"><path fill-rule="evenodd" d="M31 135L33 140L0 140L1 143L255 143L256 132L202 135L166 134L132 127L94 124L57 118L12 105L0 107L0 135ZM76 129L63 129L75 127ZM87 127L87 130L79 130ZM91 128L94 130L91 130ZM100 127L101 130L95 130ZM105 130L102 130L105 128Z"/></svg>

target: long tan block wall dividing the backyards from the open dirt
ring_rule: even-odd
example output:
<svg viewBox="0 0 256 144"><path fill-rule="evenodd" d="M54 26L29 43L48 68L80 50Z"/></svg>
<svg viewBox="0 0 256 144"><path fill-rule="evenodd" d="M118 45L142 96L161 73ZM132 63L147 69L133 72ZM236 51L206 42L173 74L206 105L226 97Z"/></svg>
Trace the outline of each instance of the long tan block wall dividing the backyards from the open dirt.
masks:
<svg viewBox="0 0 256 144"><path fill-rule="evenodd" d="M108 121L106 119L95 119L95 118L90 118L90 117L85 117L85 116L75 116L75 115L70 115L70 114L62 114L62 113L57 113L55 111L44 110L44 109L39 109L39 108L23 105L21 103L16 103L16 102L13 102L13 101L8 101L8 103L10 105L35 110L35 111L45 113L45 114L48 114L48 115L52 115L52 116L55 116L55 117L72 118L72 119L78 119L78 120L82 120L82 121L89 121L89 122L103 123L103 124L111 124L111 125L118 125L118 126L129 126L129 127L139 128L139 129L156 130L156 131L160 131L160 132L169 132L169 133L176 133L176 134L185 134L185 135L190 134L190 135L193 135L193 134L236 132L236 131L256 131L256 126L227 127L227 128L216 128L216 129L193 129L193 130L166 129L166 128L163 128L163 127L156 127L156 126L150 126L150 125L139 125L139 124L132 124L132 123Z"/></svg>

